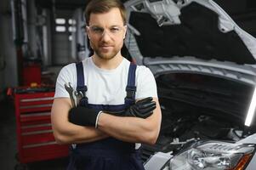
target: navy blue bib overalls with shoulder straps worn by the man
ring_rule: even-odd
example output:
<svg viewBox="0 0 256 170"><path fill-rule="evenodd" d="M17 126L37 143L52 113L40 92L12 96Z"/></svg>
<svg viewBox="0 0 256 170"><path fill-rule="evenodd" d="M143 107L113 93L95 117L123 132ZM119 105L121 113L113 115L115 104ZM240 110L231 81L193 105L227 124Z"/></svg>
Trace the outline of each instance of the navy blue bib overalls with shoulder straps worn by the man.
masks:
<svg viewBox="0 0 256 170"><path fill-rule="evenodd" d="M88 98L81 99L82 106L96 111L123 111L135 102L136 65L130 64L128 71L127 96L123 105L88 104ZM77 91L86 96L82 62L77 64ZM114 138L101 139L92 143L77 144L71 148L71 160L68 170L144 170L139 150L134 143L123 142Z"/></svg>

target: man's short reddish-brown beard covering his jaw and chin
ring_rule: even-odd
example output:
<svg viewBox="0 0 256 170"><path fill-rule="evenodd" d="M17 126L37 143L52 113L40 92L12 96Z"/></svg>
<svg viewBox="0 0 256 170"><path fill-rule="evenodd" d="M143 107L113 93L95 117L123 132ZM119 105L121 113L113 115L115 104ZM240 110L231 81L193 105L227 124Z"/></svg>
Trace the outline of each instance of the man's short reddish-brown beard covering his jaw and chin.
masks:
<svg viewBox="0 0 256 170"><path fill-rule="evenodd" d="M110 60L113 59L121 50L122 44L116 46L113 44L108 43L99 43L99 45L94 44L93 42L90 42L91 48L93 48L94 53L100 57L100 59ZM111 49L104 50L102 49L102 46L111 46Z"/></svg>

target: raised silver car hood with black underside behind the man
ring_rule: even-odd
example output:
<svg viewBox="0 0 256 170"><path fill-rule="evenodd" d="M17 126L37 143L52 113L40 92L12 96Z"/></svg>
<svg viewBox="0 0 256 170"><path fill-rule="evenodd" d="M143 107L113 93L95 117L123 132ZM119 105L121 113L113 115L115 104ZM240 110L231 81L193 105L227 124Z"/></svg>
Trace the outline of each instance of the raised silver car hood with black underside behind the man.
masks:
<svg viewBox="0 0 256 170"><path fill-rule="evenodd" d="M131 0L125 45L157 77L188 72L256 83L256 39L212 0Z"/></svg>

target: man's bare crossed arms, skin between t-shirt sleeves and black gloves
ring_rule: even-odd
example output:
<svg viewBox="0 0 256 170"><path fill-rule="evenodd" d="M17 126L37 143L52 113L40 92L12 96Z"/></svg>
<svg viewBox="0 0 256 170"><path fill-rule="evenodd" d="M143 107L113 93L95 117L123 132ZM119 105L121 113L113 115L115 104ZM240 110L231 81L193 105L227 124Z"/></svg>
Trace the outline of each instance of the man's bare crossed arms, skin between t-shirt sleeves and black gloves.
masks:
<svg viewBox="0 0 256 170"><path fill-rule="evenodd" d="M156 109L151 116L145 119L102 113L99 117L98 128L94 128L82 127L69 122L70 99L54 99L51 113L54 137L60 144L88 143L109 136L128 142L154 144L160 131L162 116L158 99L153 100L156 101Z"/></svg>

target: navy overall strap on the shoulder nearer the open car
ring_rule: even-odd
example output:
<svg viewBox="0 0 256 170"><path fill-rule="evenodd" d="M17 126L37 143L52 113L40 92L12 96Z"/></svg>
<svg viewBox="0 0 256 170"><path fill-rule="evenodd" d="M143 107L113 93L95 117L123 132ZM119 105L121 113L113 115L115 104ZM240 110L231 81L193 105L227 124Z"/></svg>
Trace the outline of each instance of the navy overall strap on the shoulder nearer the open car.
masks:
<svg viewBox="0 0 256 170"><path fill-rule="evenodd" d="M124 99L125 105L134 105L135 103L135 73L136 73L137 65L130 63L129 71L128 71L128 82L126 86L126 98Z"/></svg>

